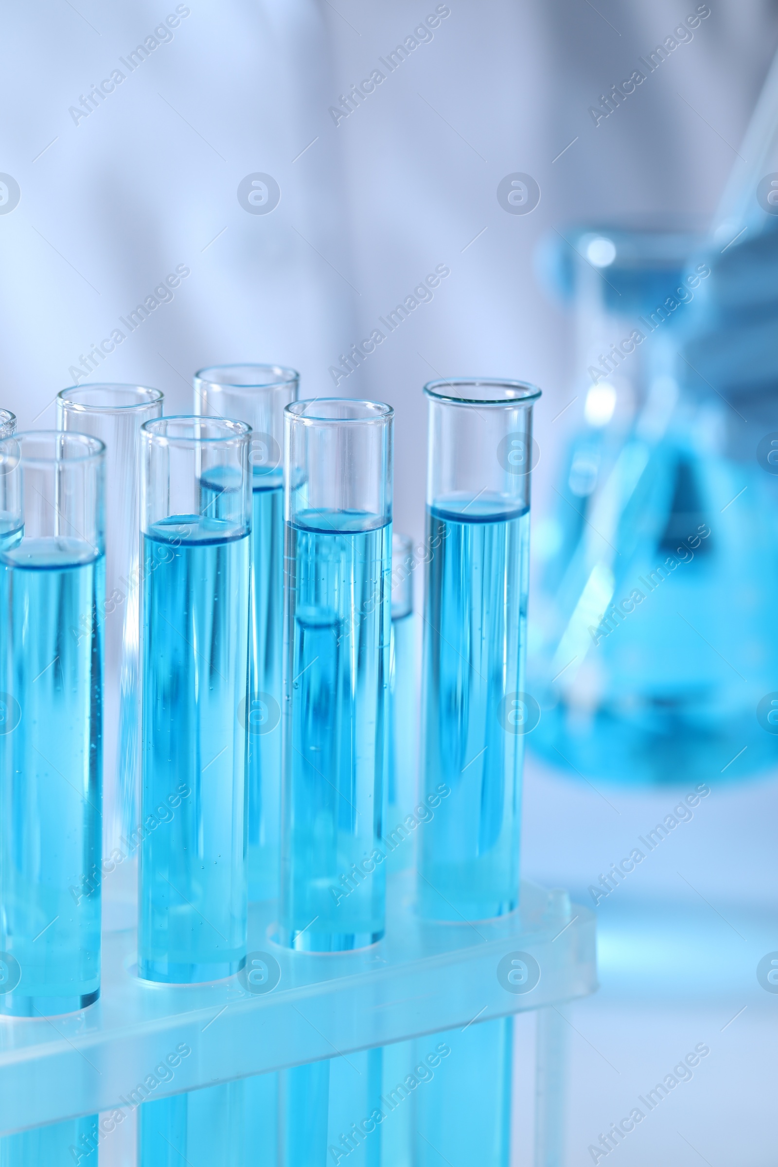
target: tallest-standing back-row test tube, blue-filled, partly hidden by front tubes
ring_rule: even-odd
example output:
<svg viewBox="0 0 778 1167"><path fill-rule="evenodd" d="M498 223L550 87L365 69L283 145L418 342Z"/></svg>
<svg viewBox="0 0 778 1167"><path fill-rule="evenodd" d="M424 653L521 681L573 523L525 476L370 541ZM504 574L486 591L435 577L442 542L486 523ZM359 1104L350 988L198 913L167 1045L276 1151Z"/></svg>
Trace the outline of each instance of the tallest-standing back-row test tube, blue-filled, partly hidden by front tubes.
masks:
<svg viewBox="0 0 778 1167"><path fill-rule="evenodd" d="M195 413L252 427L248 699L248 899L279 894L281 836L281 662L283 657L283 410L299 373L279 365L201 369Z"/></svg>

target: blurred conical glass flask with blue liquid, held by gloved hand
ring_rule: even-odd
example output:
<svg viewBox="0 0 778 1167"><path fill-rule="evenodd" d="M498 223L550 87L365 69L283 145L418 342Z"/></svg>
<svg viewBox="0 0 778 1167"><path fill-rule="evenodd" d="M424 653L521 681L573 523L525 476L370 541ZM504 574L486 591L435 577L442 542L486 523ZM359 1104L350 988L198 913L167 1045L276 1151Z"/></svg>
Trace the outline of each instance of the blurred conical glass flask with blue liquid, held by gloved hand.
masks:
<svg viewBox="0 0 778 1167"><path fill-rule="evenodd" d="M699 238L587 230L576 247L597 239L608 265L570 273L583 415L537 531L528 746L574 777L737 780L778 760L775 422L765 400L684 387Z"/></svg>

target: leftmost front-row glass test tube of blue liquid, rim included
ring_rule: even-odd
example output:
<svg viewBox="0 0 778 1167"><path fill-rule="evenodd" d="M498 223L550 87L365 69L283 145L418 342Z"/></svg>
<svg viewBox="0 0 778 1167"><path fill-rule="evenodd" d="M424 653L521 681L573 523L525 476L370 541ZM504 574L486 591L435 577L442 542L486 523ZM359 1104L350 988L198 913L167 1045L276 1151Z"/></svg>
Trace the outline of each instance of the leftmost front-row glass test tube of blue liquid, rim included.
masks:
<svg viewBox="0 0 778 1167"><path fill-rule="evenodd" d="M0 441L0 1013L100 993L105 447Z"/></svg>

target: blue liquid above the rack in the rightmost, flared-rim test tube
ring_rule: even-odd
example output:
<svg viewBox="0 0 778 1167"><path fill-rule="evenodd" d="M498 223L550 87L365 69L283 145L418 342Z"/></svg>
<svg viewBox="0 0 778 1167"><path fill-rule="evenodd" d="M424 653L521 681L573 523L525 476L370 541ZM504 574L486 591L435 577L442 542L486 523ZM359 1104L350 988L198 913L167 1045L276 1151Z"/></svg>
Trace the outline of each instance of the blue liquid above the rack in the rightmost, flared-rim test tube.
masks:
<svg viewBox="0 0 778 1167"><path fill-rule="evenodd" d="M420 834L425 915L483 920L519 894L530 512L456 496L427 513L425 794L450 788Z"/></svg>

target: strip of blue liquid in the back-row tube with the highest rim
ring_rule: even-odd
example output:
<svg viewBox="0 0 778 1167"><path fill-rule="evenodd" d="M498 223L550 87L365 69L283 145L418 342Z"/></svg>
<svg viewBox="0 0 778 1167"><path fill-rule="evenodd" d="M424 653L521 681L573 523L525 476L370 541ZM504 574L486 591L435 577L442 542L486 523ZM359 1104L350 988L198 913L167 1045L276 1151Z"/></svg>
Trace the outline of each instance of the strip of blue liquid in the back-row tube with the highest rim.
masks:
<svg viewBox="0 0 778 1167"><path fill-rule="evenodd" d="M268 483L273 482L269 475ZM251 527L248 729L248 899L279 894L281 837L281 663L283 659L283 489L259 489Z"/></svg>

